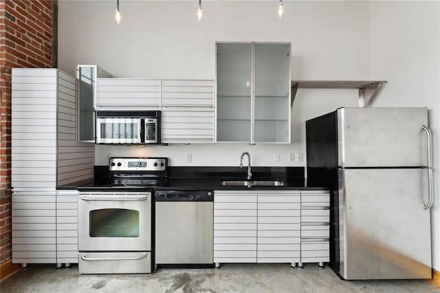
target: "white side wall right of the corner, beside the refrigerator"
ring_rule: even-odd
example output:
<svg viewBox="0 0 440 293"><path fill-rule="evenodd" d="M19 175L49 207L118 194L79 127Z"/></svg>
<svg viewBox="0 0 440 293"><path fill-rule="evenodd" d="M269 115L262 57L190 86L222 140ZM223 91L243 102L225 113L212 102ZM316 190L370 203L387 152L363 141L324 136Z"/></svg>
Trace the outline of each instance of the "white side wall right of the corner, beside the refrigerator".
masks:
<svg viewBox="0 0 440 293"><path fill-rule="evenodd" d="M371 1L371 76L388 80L373 107L428 107L434 150L431 216L436 270L440 270L439 14L439 1Z"/></svg>

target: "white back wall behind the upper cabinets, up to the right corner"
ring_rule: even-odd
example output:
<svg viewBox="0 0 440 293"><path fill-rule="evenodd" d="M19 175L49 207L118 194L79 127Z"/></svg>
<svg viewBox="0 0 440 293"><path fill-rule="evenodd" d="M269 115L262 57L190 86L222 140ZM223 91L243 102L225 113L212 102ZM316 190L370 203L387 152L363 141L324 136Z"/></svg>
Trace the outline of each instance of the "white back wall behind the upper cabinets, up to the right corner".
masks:
<svg viewBox="0 0 440 293"><path fill-rule="evenodd" d="M116 77L214 78L215 41L287 41L292 79L369 78L367 2L286 1L284 6L280 20L276 1L203 1L199 22L197 1L120 1L117 25L113 0L59 1L58 67L72 74L77 64L98 64ZM107 164L105 154L111 153L164 155L180 166L235 166L240 153L250 151L255 166L304 166L287 162L289 152L305 156L304 121L357 103L356 90L298 90L292 144L96 146L96 164ZM275 152L281 153L280 162L274 161Z"/></svg>

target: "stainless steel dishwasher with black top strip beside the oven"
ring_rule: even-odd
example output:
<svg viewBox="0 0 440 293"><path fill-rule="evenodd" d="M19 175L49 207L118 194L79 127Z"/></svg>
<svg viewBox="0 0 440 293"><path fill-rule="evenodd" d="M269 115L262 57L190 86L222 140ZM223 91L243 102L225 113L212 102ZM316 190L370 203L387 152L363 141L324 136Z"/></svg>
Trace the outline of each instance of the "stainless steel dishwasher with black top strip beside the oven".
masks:
<svg viewBox="0 0 440 293"><path fill-rule="evenodd" d="M155 264L212 268L213 191L155 191Z"/></svg>

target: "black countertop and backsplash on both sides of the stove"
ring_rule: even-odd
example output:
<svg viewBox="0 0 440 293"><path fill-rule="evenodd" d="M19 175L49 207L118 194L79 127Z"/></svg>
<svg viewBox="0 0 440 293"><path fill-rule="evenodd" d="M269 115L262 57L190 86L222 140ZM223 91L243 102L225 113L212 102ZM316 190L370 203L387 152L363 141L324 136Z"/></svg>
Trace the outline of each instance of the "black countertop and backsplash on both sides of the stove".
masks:
<svg viewBox="0 0 440 293"><path fill-rule="evenodd" d="M107 183L107 166L95 166L95 180L74 182L58 189L104 188ZM239 167L168 167L168 180L155 190L328 190L316 182L307 182L303 167L253 167L252 181L280 180L287 186L222 186L223 180L246 180L246 169Z"/></svg>

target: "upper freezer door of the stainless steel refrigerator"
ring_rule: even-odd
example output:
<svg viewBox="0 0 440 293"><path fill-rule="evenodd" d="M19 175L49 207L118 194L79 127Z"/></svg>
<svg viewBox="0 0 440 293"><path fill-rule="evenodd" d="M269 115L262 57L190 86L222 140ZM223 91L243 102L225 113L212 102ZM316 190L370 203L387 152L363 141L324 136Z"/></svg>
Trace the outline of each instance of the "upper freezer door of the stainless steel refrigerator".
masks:
<svg viewBox="0 0 440 293"><path fill-rule="evenodd" d="M338 109L338 166L426 166L426 108Z"/></svg>

